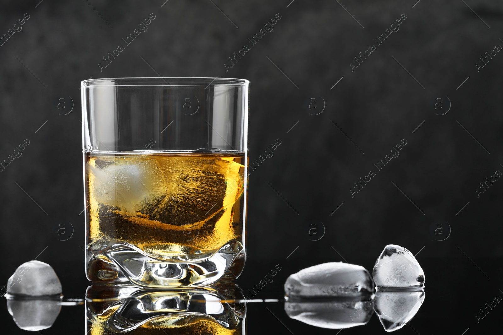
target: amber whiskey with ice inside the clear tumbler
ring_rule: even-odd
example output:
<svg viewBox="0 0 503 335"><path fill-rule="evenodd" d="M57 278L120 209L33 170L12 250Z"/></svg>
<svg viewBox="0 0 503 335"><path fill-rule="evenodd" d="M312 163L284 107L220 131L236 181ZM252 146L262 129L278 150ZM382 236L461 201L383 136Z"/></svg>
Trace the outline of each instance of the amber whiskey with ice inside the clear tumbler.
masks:
<svg viewBox="0 0 503 335"><path fill-rule="evenodd" d="M117 246L179 263L205 261L229 243L241 250L245 158L238 155L86 154L89 279L117 281L106 256Z"/></svg>

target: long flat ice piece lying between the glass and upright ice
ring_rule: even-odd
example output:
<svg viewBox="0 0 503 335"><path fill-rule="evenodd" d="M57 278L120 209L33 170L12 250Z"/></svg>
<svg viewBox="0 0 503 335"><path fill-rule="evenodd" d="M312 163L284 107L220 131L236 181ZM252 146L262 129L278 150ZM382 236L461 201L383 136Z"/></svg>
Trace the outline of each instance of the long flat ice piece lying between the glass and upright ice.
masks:
<svg viewBox="0 0 503 335"><path fill-rule="evenodd" d="M285 294L294 298L357 296L373 291L374 282L364 267L342 262L311 266L285 282Z"/></svg>

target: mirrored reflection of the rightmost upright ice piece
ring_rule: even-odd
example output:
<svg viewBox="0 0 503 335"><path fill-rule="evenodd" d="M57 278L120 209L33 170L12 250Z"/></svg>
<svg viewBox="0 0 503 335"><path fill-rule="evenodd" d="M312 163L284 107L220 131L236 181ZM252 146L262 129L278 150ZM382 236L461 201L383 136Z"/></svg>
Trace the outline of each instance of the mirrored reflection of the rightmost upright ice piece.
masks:
<svg viewBox="0 0 503 335"><path fill-rule="evenodd" d="M374 309L384 330L400 329L414 317L425 300L425 292L376 292Z"/></svg>

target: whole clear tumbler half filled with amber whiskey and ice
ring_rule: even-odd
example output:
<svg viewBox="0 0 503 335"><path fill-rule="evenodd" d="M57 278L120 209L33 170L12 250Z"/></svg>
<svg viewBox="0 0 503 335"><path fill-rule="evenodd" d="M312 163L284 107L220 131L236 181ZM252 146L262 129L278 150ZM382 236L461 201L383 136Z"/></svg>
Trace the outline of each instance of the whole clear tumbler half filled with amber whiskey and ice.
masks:
<svg viewBox="0 0 503 335"><path fill-rule="evenodd" d="M239 276L247 113L243 79L82 82L89 280L178 288Z"/></svg>

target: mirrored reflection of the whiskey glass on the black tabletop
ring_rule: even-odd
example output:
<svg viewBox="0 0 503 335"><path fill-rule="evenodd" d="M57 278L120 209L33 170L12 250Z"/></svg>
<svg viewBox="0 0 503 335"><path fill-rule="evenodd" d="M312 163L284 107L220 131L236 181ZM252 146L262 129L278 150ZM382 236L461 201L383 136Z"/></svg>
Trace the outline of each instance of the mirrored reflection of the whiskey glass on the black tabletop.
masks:
<svg viewBox="0 0 503 335"><path fill-rule="evenodd" d="M91 335L244 334L246 305L233 284L189 290L90 286L86 292Z"/></svg>

